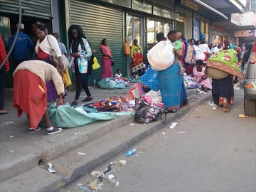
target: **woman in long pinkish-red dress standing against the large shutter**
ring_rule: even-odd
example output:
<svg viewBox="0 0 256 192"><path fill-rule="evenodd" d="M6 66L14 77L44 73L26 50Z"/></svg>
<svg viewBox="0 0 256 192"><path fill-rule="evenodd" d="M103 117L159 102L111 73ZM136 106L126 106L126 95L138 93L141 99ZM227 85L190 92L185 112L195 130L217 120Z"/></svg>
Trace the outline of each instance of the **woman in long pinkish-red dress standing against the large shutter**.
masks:
<svg viewBox="0 0 256 192"><path fill-rule="evenodd" d="M107 46L107 39L103 39L100 52L102 53L102 80L105 78L113 78L113 70L112 70L112 53L109 46Z"/></svg>

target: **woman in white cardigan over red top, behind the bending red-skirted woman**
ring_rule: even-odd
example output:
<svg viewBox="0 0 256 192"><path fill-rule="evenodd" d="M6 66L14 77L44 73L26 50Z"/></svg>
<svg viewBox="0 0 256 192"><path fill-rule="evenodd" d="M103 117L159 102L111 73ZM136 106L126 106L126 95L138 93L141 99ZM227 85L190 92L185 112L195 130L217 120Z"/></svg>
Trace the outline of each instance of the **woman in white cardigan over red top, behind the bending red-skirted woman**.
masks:
<svg viewBox="0 0 256 192"><path fill-rule="evenodd" d="M38 55L38 60L43 60L46 63L49 63L50 65L53 65L53 67L58 68L60 71L64 69L63 61L61 60L61 51L58 46L58 41L56 38L52 35L48 35L48 31L46 26L43 26L41 24L36 25L36 36L38 37L38 41L36 43L35 51ZM55 63L54 60L50 59L50 52L51 50L54 50L57 58L58 58L58 66L57 63ZM49 82L46 82L47 87L47 101L53 101L58 99L58 94L55 90L55 86L53 84L53 81L50 80Z"/></svg>

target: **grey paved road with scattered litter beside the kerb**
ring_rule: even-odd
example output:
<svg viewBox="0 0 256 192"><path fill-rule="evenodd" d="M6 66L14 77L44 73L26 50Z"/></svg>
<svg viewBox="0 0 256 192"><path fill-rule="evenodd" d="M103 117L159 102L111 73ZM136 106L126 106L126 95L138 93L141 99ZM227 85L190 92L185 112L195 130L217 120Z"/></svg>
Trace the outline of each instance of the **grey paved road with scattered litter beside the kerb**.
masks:
<svg viewBox="0 0 256 192"><path fill-rule="evenodd" d="M139 156L112 159L127 160L127 166L112 171L119 186L104 181L101 191L256 191L256 119L238 118L242 94L235 92L230 113L204 105L178 119L174 129L161 129L134 146ZM63 191L94 180L85 176Z"/></svg>

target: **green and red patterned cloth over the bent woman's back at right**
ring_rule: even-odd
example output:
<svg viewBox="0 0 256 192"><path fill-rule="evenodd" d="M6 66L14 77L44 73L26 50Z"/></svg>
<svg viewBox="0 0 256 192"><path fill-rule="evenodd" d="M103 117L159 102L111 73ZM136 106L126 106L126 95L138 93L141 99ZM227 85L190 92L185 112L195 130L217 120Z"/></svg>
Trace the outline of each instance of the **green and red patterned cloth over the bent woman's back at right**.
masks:
<svg viewBox="0 0 256 192"><path fill-rule="evenodd" d="M242 80L244 79L240 64L238 63L238 53L235 50L229 49L218 51L218 53L210 56L206 66L206 70L210 78L222 78L222 75L216 74L220 73L219 71L223 71L230 75L235 75ZM216 70L208 70L209 68L214 68Z"/></svg>

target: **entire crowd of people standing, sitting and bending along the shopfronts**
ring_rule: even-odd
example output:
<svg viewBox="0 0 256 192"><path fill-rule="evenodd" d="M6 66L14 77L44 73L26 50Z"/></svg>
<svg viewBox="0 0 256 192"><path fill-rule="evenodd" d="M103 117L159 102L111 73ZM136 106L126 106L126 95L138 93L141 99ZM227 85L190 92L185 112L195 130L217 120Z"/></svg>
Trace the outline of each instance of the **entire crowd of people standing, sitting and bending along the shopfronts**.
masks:
<svg viewBox="0 0 256 192"><path fill-rule="evenodd" d="M18 25L17 25L18 27ZM63 83L63 74L65 66L63 57L67 57L67 49L63 43L59 42L60 35L48 33L46 26L40 23L33 23L32 31L34 36L30 38L23 33L25 26L21 24L18 39L14 45L14 107L18 110L18 116L25 112L28 117L30 127L28 133L33 133L41 128L38 124L43 117L47 125L47 134L55 134L61 132L61 128L52 127L47 112L47 101L58 99L57 106L63 105L63 97L66 96L66 90ZM9 39L9 48L14 44L15 36ZM242 45L240 47L225 41L218 46L208 46L206 37L202 34L200 41L191 39L187 42L181 39L181 33L170 31L165 37L164 33L156 35L157 42L166 41L166 38L174 43L174 50L170 50L175 54L174 65L166 70L159 71L159 89L161 97L168 112L176 112L180 107L188 107L188 99L186 95L186 87L183 84L183 73L193 75L195 82L201 85L206 92L213 90L213 100L216 105L224 108L225 112L229 112L228 104L233 104L234 90L233 82L237 82L233 77L223 80L214 80L210 82L207 72L206 63L211 54L218 53L220 50L233 48L237 50L241 67L245 65L250 55L251 45ZM32 39L32 40L31 40ZM75 74L76 93L71 106L77 106L82 89L85 90L87 97L82 102L92 100L92 95L88 87L88 74L92 65L93 53L90 45L85 37L82 28L78 25L72 25L68 29L69 40L69 60L72 65L72 72ZM186 65L184 63L185 43L189 43L194 48L201 50L205 55L204 60L196 60L196 65ZM0 48L2 63L6 57L4 43L0 36ZM120 69L113 76L112 66L114 60L112 51L107 46L107 39L103 39L100 46L102 53L102 79L114 78L117 83L127 84L127 79L122 77ZM54 52L54 57L53 56ZM132 62L142 63L142 48L138 45L138 41L134 40L131 47ZM36 61L35 61L36 60ZM10 70L9 61L5 63L5 68L0 73L0 114L7 114L4 110L4 75Z"/></svg>

